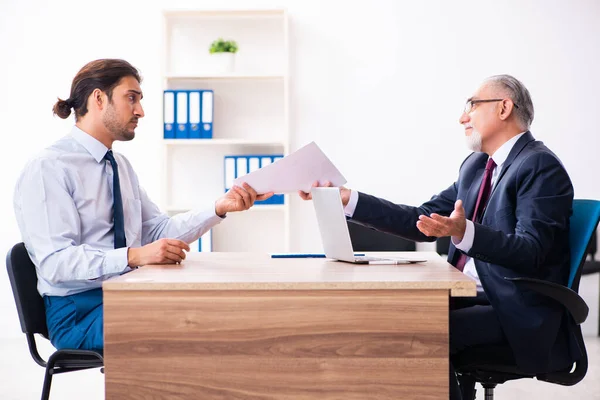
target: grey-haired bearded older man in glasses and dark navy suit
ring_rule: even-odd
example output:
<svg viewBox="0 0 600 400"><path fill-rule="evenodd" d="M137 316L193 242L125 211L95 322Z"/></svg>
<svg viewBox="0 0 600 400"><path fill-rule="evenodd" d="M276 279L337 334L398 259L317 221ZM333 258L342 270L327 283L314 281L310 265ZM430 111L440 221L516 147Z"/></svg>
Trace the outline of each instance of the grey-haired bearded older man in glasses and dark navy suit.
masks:
<svg viewBox="0 0 600 400"><path fill-rule="evenodd" d="M340 189L354 222L415 241L451 236L449 262L476 280L477 298L451 306L453 399L461 390L452 356L466 348L508 345L531 372L565 368L581 356L562 307L505 279L566 284L569 274L573 187L558 157L529 132L533 114L520 81L492 76L460 117L473 153L447 189L420 207Z"/></svg>

